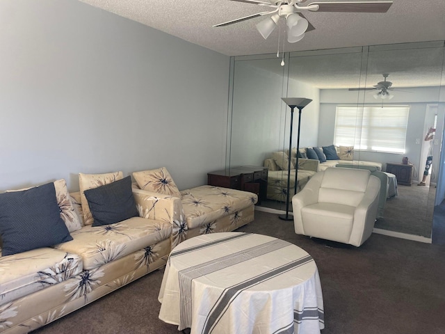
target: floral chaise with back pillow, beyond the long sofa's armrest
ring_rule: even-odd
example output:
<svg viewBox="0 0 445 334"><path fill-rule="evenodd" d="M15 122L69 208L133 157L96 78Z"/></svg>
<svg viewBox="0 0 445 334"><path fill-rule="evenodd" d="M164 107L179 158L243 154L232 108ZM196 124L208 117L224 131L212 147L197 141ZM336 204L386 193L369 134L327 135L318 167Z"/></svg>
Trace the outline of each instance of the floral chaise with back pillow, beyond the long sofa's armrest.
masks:
<svg viewBox="0 0 445 334"><path fill-rule="evenodd" d="M172 246L199 234L230 232L254 219L254 193L218 186L197 186L179 191L165 167L133 173L133 188L150 202L169 200L174 209L169 216L172 223ZM154 219L162 210L158 205L152 212Z"/></svg>

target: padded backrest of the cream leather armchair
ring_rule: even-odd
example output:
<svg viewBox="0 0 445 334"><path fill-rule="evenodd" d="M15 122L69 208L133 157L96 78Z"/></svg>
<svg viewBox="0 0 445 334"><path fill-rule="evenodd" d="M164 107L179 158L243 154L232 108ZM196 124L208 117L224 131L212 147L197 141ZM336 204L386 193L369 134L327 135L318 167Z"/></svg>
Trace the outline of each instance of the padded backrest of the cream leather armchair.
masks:
<svg viewBox="0 0 445 334"><path fill-rule="evenodd" d="M357 207L363 199L370 175L369 170L350 173L346 168L327 168L318 191L318 202Z"/></svg>

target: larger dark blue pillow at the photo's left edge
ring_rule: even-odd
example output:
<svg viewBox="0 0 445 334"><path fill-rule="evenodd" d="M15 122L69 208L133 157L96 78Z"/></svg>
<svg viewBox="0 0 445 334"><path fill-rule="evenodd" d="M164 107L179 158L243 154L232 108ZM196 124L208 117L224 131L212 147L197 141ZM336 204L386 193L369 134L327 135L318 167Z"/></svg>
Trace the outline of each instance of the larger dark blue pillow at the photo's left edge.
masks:
<svg viewBox="0 0 445 334"><path fill-rule="evenodd" d="M0 193L0 235L3 256L72 240L60 218L54 182Z"/></svg>

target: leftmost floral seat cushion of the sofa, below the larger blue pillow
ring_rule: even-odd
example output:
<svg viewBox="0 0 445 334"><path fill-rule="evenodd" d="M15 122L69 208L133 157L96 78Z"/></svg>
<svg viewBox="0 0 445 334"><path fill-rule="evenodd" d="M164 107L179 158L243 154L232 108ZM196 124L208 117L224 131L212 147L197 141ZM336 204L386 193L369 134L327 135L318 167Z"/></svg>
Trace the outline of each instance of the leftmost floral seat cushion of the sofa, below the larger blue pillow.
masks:
<svg viewBox="0 0 445 334"><path fill-rule="evenodd" d="M54 248L0 257L0 304L63 282L82 269L79 255Z"/></svg>

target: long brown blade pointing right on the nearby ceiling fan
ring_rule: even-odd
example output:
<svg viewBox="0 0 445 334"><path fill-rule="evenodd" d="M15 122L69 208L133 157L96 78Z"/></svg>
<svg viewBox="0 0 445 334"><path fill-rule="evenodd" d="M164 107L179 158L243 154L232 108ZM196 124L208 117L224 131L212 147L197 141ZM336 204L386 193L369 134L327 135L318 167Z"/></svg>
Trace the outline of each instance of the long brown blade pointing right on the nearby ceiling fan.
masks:
<svg viewBox="0 0 445 334"><path fill-rule="evenodd" d="M317 12L386 13L392 1L312 2L308 6L312 5L318 5Z"/></svg>

